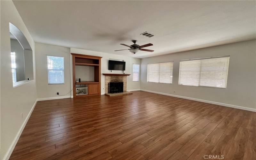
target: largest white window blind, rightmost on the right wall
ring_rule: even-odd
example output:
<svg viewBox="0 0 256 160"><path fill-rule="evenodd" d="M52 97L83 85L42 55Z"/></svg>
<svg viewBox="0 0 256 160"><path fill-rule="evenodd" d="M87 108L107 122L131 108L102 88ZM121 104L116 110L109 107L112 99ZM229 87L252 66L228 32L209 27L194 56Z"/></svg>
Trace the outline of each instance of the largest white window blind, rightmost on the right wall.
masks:
<svg viewBox="0 0 256 160"><path fill-rule="evenodd" d="M226 88L229 56L180 61L179 84Z"/></svg>

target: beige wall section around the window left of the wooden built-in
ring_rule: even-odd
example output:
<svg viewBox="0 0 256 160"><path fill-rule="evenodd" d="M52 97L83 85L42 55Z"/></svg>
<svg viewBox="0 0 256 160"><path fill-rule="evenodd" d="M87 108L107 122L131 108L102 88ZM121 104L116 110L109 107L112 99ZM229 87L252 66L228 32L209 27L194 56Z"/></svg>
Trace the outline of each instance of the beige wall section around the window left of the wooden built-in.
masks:
<svg viewBox="0 0 256 160"><path fill-rule="evenodd" d="M69 54L67 47L36 43L36 86L39 99L57 97L57 92L60 95L71 95ZM64 57L64 84L48 84L47 55Z"/></svg>

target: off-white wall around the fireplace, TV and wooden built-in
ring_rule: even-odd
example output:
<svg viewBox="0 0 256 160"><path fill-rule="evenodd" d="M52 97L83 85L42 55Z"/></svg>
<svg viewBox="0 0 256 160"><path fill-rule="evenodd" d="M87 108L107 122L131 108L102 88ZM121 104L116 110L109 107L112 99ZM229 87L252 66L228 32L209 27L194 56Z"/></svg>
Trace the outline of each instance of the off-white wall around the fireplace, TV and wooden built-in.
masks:
<svg viewBox="0 0 256 160"><path fill-rule="evenodd" d="M103 76L102 73L131 74L130 76L127 77L127 91L140 89L140 82L132 82L132 64L133 63L140 64L140 59L127 57L127 56L120 56L120 55L116 55L116 54L87 51L87 50L76 49L76 48L70 48L70 52L77 53L77 54L85 54L85 55L103 57L101 59L101 93L105 93L105 76ZM130 53L127 53L127 54L130 54ZM110 72L110 70L108 70L108 60L109 59L124 60L126 62L125 63L125 71L112 70L112 72ZM72 60L71 56L70 56L70 60ZM72 75L72 70L71 70L71 75Z"/></svg>

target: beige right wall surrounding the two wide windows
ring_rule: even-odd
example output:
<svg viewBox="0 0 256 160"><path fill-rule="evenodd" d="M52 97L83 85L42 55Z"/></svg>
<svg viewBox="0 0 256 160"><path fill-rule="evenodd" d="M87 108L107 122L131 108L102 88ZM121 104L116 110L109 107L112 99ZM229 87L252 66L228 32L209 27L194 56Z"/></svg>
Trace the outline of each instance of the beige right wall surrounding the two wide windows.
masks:
<svg viewBox="0 0 256 160"><path fill-rule="evenodd" d="M256 109L255 46L252 40L142 59L140 89ZM178 84L180 60L226 55L230 55L226 89ZM166 61L174 62L172 84L147 82L147 64Z"/></svg>

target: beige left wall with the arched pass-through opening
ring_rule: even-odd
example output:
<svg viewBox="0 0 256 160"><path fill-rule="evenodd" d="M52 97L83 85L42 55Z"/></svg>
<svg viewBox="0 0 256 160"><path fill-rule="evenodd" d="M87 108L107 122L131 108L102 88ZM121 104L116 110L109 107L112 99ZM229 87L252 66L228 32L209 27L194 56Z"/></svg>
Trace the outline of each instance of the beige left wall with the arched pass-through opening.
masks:
<svg viewBox="0 0 256 160"><path fill-rule="evenodd" d="M0 1L1 3L1 158L13 148L16 138L19 137L19 130L25 122L30 110L33 108L36 96L36 79L12 87L11 72L11 45L9 22L23 32L33 51L35 62L35 43L30 36L28 29L23 23L18 11L12 1ZM35 65L35 63L34 63ZM34 66L35 68L35 66ZM35 73L35 69L34 69ZM35 75L35 74L34 74ZM23 113L23 118L21 118ZM13 146L14 147L14 146ZM8 158L8 157L7 157Z"/></svg>

